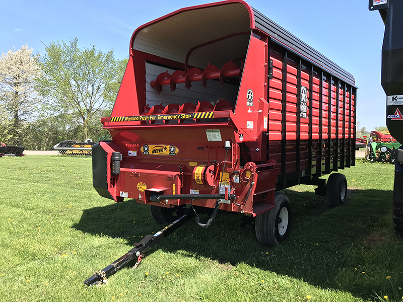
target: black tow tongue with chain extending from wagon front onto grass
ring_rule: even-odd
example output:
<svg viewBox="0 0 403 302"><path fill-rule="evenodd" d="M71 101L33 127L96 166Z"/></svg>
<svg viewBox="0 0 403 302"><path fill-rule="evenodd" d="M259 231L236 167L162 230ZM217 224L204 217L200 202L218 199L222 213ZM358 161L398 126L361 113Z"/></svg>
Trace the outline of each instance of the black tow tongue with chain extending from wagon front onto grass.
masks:
<svg viewBox="0 0 403 302"><path fill-rule="evenodd" d="M85 285L94 286L106 283L107 278L116 273L118 270L128 266L130 262L137 259L135 267L141 262L144 253L163 240L165 237L171 235L174 231L180 228L183 224L195 216L195 213L190 209L186 213L176 219L171 224L165 226L164 229L155 233L154 235L147 235L139 243L135 243L135 247L128 251L125 255L115 260L101 271L95 272L90 278L84 281Z"/></svg>

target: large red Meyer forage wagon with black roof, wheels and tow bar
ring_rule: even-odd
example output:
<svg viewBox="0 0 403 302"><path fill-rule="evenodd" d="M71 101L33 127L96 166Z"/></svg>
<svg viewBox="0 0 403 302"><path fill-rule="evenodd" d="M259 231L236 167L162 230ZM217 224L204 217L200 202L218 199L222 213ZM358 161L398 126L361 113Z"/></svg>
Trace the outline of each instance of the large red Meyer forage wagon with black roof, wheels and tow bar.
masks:
<svg viewBox="0 0 403 302"><path fill-rule="evenodd" d="M239 213L260 243L274 246L291 221L278 191L310 184L331 205L345 202L344 175L330 174L327 184L320 177L355 165L349 72L240 0L140 26L129 54L112 114L101 119L112 141L92 147L93 185L172 223L86 284L140 261L192 216L206 227L219 210ZM207 223L200 209L214 209Z"/></svg>

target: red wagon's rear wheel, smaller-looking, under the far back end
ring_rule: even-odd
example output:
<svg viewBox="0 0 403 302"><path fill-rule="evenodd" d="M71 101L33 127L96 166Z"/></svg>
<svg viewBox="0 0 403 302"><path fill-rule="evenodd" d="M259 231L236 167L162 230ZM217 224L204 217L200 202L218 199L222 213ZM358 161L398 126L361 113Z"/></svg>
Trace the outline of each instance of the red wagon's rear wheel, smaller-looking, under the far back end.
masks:
<svg viewBox="0 0 403 302"><path fill-rule="evenodd" d="M346 176L340 173L332 173L327 179L326 200L331 206L339 206L347 199Z"/></svg>

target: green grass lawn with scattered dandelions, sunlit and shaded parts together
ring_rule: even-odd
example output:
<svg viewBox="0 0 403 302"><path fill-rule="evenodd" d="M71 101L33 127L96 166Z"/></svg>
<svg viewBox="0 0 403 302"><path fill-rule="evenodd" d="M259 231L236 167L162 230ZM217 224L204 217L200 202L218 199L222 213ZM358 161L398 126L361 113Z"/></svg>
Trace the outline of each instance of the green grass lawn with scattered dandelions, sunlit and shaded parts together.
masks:
<svg viewBox="0 0 403 302"><path fill-rule="evenodd" d="M100 288L83 281L161 226L148 206L100 197L91 170L90 158L0 158L0 300L402 301L390 164L342 171L349 197L337 208L314 187L285 190L293 224L278 247L220 213L207 230L188 222Z"/></svg>

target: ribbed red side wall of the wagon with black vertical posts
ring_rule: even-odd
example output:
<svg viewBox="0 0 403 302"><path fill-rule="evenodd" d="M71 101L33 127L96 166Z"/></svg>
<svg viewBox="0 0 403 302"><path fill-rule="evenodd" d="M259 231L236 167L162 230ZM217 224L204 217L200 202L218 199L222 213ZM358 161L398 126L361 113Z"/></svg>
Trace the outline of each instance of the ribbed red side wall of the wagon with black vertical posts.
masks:
<svg viewBox="0 0 403 302"><path fill-rule="evenodd" d="M270 59L269 158L285 165L282 174L354 165L355 88L274 43ZM300 117L301 86L307 88L306 118Z"/></svg>

